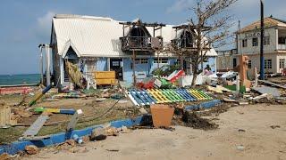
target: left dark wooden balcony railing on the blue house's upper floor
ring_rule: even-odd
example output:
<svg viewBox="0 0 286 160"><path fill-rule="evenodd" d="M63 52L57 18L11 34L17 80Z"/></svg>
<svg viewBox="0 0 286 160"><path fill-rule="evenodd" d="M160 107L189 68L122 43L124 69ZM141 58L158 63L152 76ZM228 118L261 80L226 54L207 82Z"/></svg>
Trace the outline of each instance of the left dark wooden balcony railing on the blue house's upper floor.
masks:
<svg viewBox="0 0 286 160"><path fill-rule="evenodd" d="M123 36L121 41L122 51L150 51L155 49L157 45L163 44L162 39L149 36Z"/></svg>

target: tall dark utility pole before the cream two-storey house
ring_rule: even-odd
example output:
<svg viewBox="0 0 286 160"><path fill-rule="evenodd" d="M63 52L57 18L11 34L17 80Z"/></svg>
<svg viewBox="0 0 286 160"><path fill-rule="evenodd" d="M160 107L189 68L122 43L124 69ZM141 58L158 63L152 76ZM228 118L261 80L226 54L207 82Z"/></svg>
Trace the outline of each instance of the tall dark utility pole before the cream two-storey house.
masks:
<svg viewBox="0 0 286 160"><path fill-rule="evenodd" d="M260 77L259 79L265 79L265 57L264 57L264 36L265 36L265 20L264 20L264 3L260 0Z"/></svg>

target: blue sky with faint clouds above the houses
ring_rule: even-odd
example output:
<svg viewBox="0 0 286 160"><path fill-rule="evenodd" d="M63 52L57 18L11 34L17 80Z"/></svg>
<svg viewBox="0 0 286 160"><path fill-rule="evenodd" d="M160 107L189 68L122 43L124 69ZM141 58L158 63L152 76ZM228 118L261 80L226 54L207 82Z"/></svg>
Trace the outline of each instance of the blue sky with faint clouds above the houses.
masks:
<svg viewBox="0 0 286 160"><path fill-rule="evenodd" d="M38 44L50 41L56 13L111 17L114 20L181 24L195 0L2 0L0 75L39 73ZM265 17L286 20L286 0L265 0ZM239 0L228 12L241 28L259 20L259 0ZM238 24L231 28L237 29ZM231 48L232 46L228 46Z"/></svg>

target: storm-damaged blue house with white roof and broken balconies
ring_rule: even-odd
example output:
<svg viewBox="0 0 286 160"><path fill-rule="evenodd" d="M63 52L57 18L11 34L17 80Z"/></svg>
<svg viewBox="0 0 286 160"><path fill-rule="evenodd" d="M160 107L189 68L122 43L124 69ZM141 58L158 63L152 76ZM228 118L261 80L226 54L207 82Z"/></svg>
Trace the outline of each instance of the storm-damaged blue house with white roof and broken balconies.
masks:
<svg viewBox="0 0 286 160"><path fill-rule="evenodd" d="M157 52L164 44L174 39L193 43L186 39L185 32L177 32L172 25L117 21L111 18L57 14L52 20L50 46L52 47L54 80L59 85L69 83L65 61L76 64L83 75L93 82L95 71L116 72L116 79L125 83L152 74L152 71L164 65L178 63L178 57L172 53ZM207 52L209 64L215 72L216 52ZM134 61L134 63L133 63ZM190 74L190 65L182 65ZM206 66L206 64L204 65ZM133 70L134 68L134 70ZM55 82L55 84L57 84Z"/></svg>

